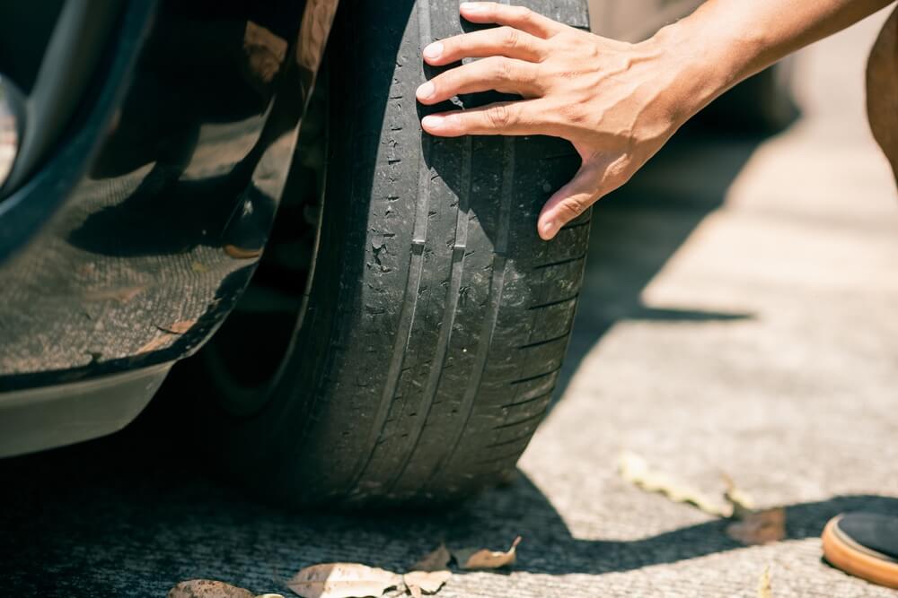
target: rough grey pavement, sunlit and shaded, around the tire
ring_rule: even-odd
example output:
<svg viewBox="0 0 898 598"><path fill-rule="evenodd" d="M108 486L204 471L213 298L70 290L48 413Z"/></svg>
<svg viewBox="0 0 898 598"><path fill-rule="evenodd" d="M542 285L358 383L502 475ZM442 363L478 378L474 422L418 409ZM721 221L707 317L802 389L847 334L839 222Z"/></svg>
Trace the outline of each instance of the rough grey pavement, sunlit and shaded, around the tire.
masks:
<svg viewBox="0 0 898 598"><path fill-rule="evenodd" d="M898 194L867 133L877 23L798 56L803 117L766 140L693 135L594 213L584 299L517 480L431 515L264 506L153 412L119 435L0 463L0 595L163 596L212 577L289 593L323 561L401 569L441 541L503 548L468 596L894 596L820 558L833 515L898 513ZM783 542L621 480L621 449L709 493L726 472L787 509Z"/></svg>

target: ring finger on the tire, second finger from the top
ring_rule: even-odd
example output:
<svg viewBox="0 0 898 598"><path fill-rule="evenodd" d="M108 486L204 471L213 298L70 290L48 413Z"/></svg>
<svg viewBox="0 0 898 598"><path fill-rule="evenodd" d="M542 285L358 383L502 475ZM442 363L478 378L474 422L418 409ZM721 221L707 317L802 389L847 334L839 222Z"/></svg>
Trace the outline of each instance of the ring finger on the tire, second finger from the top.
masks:
<svg viewBox="0 0 898 598"><path fill-rule="evenodd" d="M484 56L507 56L540 62L546 55L546 42L514 27L474 31L436 41L422 54L430 65L441 66Z"/></svg>

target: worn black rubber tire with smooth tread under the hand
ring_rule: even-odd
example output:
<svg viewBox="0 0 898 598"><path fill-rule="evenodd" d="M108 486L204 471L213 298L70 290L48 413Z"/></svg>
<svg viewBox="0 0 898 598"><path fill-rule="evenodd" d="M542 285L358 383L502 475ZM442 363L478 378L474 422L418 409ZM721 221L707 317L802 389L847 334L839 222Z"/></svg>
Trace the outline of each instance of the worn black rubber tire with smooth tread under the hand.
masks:
<svg viewBox="0 0 898 598"><path fill-rule="evenodd" d="M582 0L529 4L588 22ZM550 403L589 213L550 243L535 223L578 159L549 138L422 136L421 44L459 32L456 2L341 2L308 309L264 408L216 428L216 451L269 496L463 498L514 469Z"/></svg>

